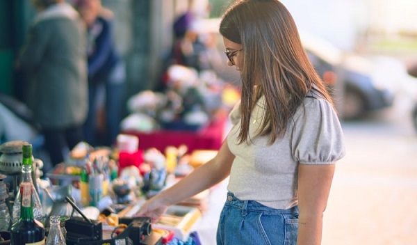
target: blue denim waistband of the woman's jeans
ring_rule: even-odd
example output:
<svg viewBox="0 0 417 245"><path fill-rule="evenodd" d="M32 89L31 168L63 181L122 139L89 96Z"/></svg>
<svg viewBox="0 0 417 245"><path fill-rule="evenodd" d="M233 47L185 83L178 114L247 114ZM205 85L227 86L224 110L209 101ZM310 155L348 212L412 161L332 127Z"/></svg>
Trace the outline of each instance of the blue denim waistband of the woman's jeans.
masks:
<svg viewBox="0 0 417 245"><path fill-rule="evenodd" d="M267 212L269 214L293 214L298 212L298 206L291 207L288 210L278 210L272 207L267 207L254 200L240 200L234 196L234 193L227 192L226 204L229 206L237 207L241 210L253 211L253 212Z"/></svg>

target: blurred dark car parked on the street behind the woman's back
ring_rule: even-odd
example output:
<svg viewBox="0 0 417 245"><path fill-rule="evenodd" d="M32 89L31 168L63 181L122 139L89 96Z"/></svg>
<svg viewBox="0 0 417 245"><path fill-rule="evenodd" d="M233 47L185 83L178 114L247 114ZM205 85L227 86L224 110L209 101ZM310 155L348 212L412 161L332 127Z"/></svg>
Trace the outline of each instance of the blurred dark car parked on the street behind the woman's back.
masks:
<svg viewBox="0 0 417 245"><path fill-rule="evenodd" d="M333 87L343 119L362 118L393 105L395 83L404 65L386 56L346 53L315 35L300 33L306 53L322 79ZM341 84L340 84L341 83ZM338 94L337 94L338 93Z"/></svg>

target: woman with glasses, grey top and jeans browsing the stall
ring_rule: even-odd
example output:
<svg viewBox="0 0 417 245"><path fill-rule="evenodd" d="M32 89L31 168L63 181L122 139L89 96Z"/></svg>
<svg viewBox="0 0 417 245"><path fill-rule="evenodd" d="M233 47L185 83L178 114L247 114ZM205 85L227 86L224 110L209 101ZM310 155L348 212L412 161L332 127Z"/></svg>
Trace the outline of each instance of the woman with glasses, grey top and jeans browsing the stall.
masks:
<svg viewBox="0 0 417 245"><path fill-rule="evenodd" d="M345 155L332 98L279 1L234 1L220 33L243 83L234 126L211 161L136 216L156 221L230 175L218 244L320 244L334 165Z"/></svg>

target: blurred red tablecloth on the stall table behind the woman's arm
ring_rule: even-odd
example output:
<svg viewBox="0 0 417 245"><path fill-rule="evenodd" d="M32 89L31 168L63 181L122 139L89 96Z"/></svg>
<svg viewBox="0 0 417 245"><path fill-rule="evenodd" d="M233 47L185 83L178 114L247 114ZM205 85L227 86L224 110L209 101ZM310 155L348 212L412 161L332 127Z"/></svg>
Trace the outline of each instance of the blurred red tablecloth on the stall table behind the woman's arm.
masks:
<svg viewBox="0 0 417 245"><path fill-rule="evenodd" d="M199 129L197 132L159 130L152 133L134 131L122 133L138 136L140 150L156 148L161 152L165 152L167 146L178 147L181 144L187 145L188 152L193 152L193 150L219 150L224 137L226 121L227 116L215 117L206 127Z"/></svg>

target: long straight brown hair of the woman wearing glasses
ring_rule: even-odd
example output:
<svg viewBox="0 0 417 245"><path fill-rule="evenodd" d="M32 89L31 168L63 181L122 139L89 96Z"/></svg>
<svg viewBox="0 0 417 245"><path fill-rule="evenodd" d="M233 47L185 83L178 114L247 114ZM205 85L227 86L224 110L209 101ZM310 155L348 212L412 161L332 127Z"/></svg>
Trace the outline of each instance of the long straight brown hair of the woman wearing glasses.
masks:
<svg viewBox="0 0 417 245"><path fill-rule="evenodd" d="M234 1L220 22L220 33L243 46L241 128L239 142L247 141L254 87L265 96L265 115L259 135L270 143L282 136L311 89L332 102L306 52L293 17L277 0ZM313 86L316 85L316 86ZM314 87L314 88L313 88Z"/></svg>

